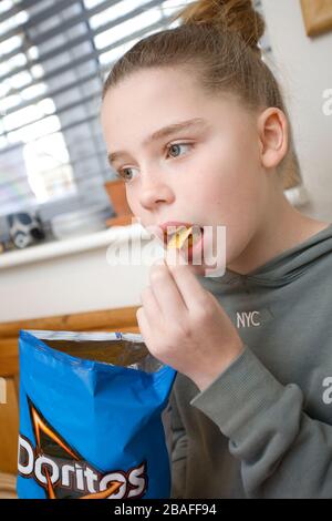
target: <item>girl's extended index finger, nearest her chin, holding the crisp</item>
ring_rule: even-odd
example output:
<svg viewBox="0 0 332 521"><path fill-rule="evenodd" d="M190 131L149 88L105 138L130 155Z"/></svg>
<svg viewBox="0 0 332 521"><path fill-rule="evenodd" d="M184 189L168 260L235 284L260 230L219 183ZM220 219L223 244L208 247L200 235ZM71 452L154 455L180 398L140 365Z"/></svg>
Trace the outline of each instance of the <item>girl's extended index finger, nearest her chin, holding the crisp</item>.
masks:
<svg viewBox="0 0 332 521"><path fill-rule="evenodd" d="M174 257L172 257L168 264L168 255L166 255L169 274L176 284L186 308L190 311L201 307L206 302L206 290L195 277L190 266L188 266L180 254L177 255L176 263L174 263Z"/></svg>

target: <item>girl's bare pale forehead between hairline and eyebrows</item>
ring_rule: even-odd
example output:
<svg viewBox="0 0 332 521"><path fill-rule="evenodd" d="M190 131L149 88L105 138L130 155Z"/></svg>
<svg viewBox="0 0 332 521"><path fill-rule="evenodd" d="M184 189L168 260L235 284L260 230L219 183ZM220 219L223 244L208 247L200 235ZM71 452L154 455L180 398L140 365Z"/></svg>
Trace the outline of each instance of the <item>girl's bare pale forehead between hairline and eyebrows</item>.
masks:
<svg viewBox="0 0 332 521"><path fill-rule="evenodd" d="M168 74L166 70L139 71L111 86L102 109L110 144L137 146L164 126L194 119L214 126L226 121L229 126L243 123L243 109L234 95L207 95L193 83L188 72L176 69Z"/></svg>

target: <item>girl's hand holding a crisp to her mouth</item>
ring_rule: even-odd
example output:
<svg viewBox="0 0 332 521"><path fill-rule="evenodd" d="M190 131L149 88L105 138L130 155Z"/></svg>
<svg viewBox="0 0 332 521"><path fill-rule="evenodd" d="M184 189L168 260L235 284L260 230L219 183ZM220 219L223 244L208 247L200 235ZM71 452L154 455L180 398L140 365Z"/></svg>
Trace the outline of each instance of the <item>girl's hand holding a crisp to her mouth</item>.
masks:
<svg viewBox="0 0 332 521"><path fill-rule="evenodd" d="M243 350L230 318L190 266L165 260L151 268L136 317L151 354L207 388ZM172 253L174 255L174 252Z"/></svg>

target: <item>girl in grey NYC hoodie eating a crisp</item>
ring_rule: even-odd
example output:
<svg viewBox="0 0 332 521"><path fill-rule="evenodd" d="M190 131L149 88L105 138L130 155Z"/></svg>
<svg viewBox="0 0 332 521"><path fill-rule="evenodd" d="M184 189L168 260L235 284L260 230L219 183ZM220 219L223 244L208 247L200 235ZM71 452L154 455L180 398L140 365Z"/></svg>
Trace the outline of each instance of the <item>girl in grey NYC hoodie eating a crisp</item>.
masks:
<svg viewBox="0 0 332 521"><path fill-rule="evenodd" d="M200 0L179 18L115 64L102 106L143 226L227 231L224 276L167 253L137 310L178 371L173 497L331 498L332 225L284 197L290 122L251 2Z"/></svg>

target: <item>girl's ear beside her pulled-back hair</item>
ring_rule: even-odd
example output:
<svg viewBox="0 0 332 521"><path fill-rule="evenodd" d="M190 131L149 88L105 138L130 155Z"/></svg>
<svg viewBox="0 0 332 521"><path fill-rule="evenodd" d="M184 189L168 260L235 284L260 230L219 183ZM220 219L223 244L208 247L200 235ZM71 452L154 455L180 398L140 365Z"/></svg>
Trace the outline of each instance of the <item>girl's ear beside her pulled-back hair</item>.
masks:
<svg viewBox="0 0 332 521"><path fill-rule="evenodd" d="M289 127L284 113L274 106L266 109L258 119L261 164L274 168L289 146Z"/></svg>

